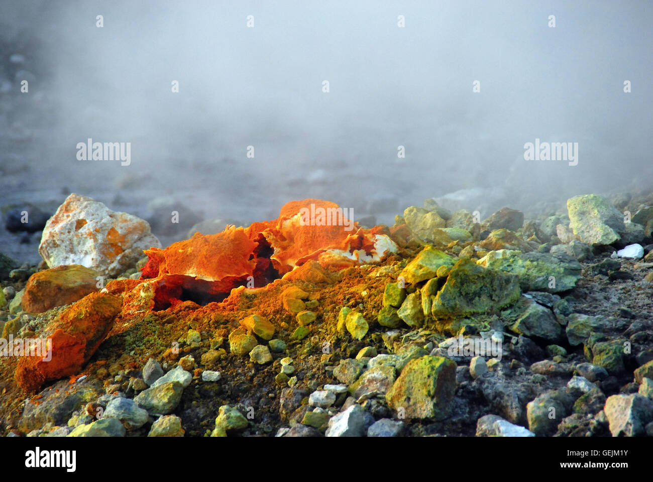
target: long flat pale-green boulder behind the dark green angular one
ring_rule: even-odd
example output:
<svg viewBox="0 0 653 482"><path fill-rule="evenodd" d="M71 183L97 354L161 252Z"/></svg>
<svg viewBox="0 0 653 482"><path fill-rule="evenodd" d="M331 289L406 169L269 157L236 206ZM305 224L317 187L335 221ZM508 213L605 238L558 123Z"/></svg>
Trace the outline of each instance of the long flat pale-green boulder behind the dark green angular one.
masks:
<svg viewBox="0 0 653 482"><path fill-rule="evenodd" d="M486 268L517 274L523 291L568 291L581 278L581 263L565 254L556 257L549 253L500 249L488 253L477 263Z"/></svg>

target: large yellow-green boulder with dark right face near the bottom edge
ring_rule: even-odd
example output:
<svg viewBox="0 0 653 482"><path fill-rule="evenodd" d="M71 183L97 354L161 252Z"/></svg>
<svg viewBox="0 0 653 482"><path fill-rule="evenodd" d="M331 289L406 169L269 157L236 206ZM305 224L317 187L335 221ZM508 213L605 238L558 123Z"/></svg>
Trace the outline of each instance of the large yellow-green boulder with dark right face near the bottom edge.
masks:
<svg viewBox="0 0 653 482"><path fill-rule="evenodd" d="M407 419L447 417L456 393L456 363L425 355L404 367L385 400L392 410Z"/></svg>

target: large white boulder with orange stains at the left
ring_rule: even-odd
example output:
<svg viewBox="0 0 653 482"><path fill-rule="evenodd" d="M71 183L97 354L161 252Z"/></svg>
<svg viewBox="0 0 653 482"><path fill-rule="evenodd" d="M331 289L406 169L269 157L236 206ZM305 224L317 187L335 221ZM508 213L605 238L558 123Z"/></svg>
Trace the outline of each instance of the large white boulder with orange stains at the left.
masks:
<svg viewBox="0 0 653 482"><path fill-rule="evenodd" d="M71 194L48 219L39 253L50 268L82 265L112 277L133 267L143 249L152 247L161 248L161 243L147 221Z"/></svg>

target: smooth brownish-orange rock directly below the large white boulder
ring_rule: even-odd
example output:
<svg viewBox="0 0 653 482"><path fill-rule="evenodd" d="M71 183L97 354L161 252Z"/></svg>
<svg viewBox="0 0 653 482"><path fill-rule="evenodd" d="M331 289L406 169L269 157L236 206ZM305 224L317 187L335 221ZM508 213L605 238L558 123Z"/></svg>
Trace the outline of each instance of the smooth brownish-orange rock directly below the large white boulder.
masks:
<svg viewBox="0 0 653 482"><path fill-rule="evenodd" d="M97 272L82 265L57 266L39 271L27 280L22 298L27 313L43 313L97 291Z"/></svg>

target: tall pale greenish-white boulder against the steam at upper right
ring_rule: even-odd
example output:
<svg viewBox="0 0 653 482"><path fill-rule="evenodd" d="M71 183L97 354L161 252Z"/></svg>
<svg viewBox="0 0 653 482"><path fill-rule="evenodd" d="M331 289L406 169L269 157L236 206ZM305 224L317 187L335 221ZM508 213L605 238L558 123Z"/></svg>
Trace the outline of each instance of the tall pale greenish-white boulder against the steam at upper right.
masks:
<svg viewBox="0 0 653 482"><path fill-rule="evenodd" d="M569 227L587 244L612 244L626 231L624 214L596 194L567 199L567 212Z"/></svg>

